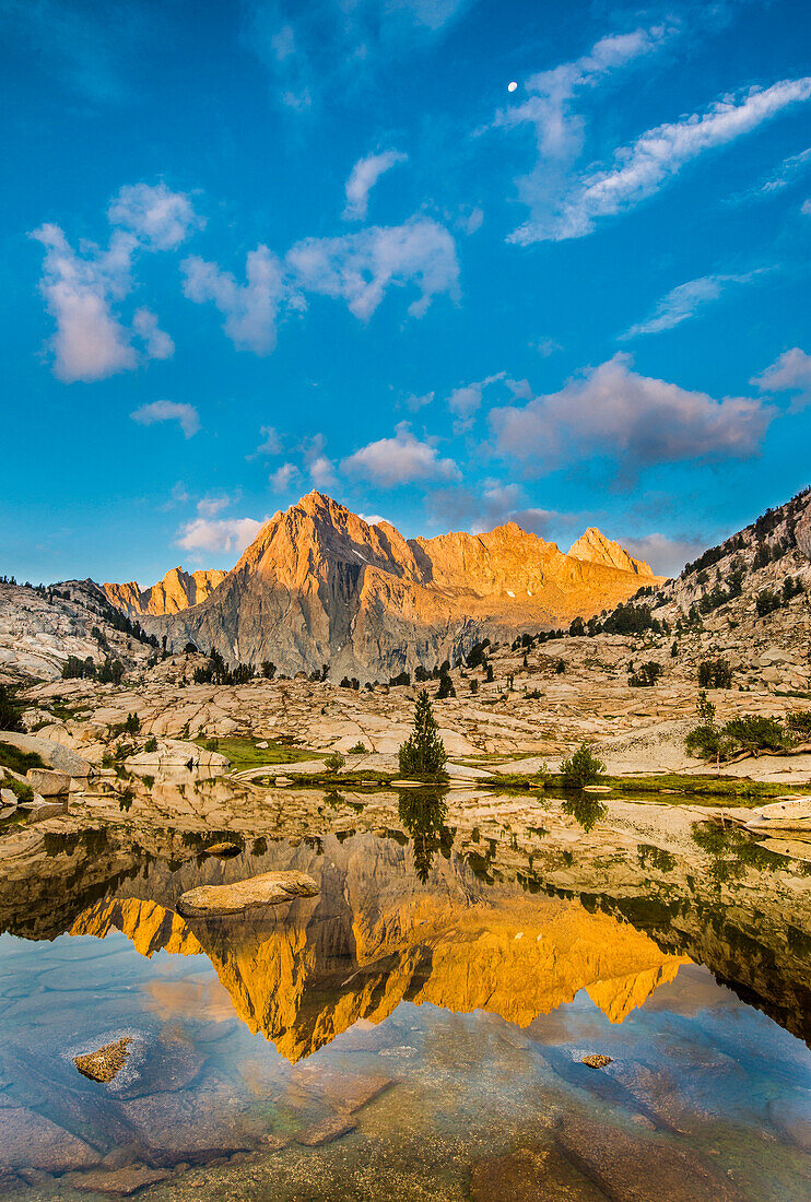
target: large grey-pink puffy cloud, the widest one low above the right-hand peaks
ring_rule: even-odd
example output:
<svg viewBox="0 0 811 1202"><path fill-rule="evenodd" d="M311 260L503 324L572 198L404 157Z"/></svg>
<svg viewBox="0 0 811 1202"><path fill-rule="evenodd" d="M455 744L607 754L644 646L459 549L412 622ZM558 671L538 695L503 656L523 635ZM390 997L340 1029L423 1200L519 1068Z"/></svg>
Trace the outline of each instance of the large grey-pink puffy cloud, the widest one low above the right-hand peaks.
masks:
<svg viewBox="0 0 811 1202"><path fill-rule="evenodd" d="M715 400L631 370L618 355L524 407L490 411L497 453L537 470L604 456L625 474L682 459L756 454L776 411L746 397Z"/></svg>

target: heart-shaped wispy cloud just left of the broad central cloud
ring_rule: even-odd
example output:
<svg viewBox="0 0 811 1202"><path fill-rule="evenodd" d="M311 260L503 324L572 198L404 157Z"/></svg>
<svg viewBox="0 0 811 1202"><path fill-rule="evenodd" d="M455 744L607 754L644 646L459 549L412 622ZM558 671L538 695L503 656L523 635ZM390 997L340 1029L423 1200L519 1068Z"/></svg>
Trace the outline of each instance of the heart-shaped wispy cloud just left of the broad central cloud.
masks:
<svg viewBox="0 0 811 1202"><path fill-rule="evenodd" d="M183 292L196 304L211 300L225 317L222 328L238 350L269 355L276 345L276 317L285 298L281 263L267 246L251 250L245 284L231 272L191 255L180 264Z"/></svg>

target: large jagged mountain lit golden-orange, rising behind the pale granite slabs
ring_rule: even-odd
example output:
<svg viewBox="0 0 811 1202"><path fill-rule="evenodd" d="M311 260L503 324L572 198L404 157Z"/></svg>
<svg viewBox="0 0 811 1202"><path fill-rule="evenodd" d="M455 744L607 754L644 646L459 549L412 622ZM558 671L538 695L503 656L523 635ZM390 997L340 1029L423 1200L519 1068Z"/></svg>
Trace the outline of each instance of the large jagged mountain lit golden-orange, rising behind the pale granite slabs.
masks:
<svg viewBox="0 0 811 1202"><path fill-rule="evenodd" d="M386 677L453 657L485 633L568 624L656 582L616 553L619 563L565 555L512 522L406 540L310 493L262 526L208 600L150 629L175 647L191 639L290 674L328 664L333 677Z"/></svg>

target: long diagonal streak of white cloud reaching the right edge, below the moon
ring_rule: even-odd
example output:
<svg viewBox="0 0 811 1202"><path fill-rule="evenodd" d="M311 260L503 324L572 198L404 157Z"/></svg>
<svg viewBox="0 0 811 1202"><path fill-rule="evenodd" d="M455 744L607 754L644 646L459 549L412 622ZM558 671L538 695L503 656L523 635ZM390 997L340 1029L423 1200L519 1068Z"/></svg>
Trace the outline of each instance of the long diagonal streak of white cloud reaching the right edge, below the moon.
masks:
<svg viewBox="0 0 811 1202"><path fill-rule="evenodd" d="M652 196L691 160L750 133L809 97L811 77L782 79L770 88L751 88L743 99L724 96L704 113L648 130L618 149L609 168L580 175L559 203L549 206L548 196L531 191L524 195L533 212L509 240L527 245L582 238L595 230L601 218L625 213Z"/></svg>

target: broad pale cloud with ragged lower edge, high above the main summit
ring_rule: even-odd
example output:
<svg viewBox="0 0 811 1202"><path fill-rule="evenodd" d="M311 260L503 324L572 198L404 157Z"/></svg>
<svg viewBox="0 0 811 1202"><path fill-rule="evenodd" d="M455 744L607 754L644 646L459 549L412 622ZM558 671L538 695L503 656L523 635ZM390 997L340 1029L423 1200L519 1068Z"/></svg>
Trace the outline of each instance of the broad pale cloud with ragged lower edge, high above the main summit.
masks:
<svg viewBox="0 0 811 1202"><path fill-rule="evenodd" d="M459 288L455 243L445 226L424 216L339 238L305 238L291 248L286 262L298 287L345 300L363 321L392 285L413 284L419 290L409 305L415 317L435 296L455 297Z"/></svg>

